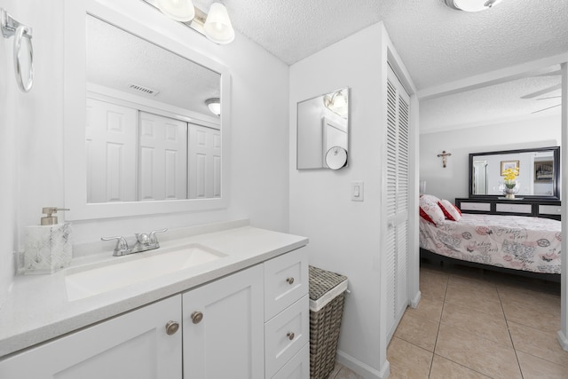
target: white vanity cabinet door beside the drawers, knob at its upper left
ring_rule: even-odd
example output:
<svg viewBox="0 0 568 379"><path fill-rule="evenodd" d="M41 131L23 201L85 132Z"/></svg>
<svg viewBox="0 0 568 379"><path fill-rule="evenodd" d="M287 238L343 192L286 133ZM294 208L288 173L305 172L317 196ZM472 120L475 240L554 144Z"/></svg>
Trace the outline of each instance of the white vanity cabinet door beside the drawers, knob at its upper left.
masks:
<svg viewBox="0 0 568 379"><path fill-rule="evenodd" d="M183 295L184 378L264 377L263 267Z"/></svg>

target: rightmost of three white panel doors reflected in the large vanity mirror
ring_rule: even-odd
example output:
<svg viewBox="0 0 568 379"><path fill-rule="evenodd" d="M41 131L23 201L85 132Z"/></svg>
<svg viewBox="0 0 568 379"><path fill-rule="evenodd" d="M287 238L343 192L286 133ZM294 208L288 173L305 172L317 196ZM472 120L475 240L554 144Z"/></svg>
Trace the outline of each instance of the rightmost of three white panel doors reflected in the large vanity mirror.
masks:
<svg viewBox="0 0 568 379"><path fill-rule="evenodd" d="M221 131L189 124L190 199L221 197Z"/></svg>

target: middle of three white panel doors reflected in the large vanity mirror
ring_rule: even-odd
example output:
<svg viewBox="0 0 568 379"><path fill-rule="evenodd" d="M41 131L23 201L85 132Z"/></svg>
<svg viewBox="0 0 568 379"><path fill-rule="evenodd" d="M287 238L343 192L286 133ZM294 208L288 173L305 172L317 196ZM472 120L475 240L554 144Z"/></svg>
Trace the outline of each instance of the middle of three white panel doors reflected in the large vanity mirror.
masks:
<svg viewBox="0 0 568 379"><path fill-rule="evenodd" d="M139 112L138 200L187 199L187 123Z"/></svg>

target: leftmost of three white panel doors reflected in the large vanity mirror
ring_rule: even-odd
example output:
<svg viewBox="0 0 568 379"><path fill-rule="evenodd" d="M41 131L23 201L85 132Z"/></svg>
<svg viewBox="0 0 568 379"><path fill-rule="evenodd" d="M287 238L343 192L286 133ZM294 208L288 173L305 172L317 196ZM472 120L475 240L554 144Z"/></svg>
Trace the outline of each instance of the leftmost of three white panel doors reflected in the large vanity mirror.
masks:
<svg viewBox="0 0 568 379"><path fill-rule="evenodd" d="M136 114L87 99L87 202L136 200Z"/></svg>

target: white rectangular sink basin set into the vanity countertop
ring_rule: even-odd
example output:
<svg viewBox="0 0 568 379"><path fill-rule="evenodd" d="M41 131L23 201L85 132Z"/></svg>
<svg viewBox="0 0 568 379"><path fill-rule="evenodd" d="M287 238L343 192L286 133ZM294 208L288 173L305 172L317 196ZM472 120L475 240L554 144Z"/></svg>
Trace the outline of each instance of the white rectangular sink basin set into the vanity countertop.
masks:
<svg viewBox="0 0 568 379"><path fill-rule="evenodd" d="M197 244L156 253L147 257L138 256L146 253L138 253L129 256L131 260L127 262L67 274L67 299L74 301L98 295L225 257L222 253Z"/></svg>

